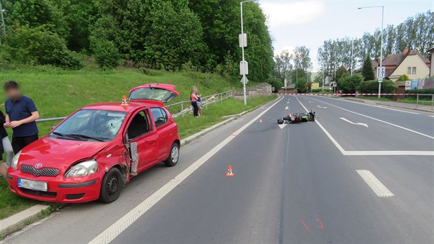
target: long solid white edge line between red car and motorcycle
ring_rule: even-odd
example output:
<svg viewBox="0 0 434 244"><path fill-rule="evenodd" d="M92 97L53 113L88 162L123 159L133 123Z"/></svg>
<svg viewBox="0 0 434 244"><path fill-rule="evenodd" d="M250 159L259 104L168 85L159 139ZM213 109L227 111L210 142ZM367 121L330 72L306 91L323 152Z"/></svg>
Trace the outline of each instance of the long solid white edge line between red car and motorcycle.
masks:
<svg viewBox="0 0 434 244"><path fill-rule="evenodd" d="M267 110L264 110L261 112L258 116L256 116L251 121L247 122L245 125L242 125L240 129L236 131L237 134L240 134L243 130L245 130L249 125L252 123L255 123L258 119L261 118L263 114L265 114L268 110L273 108L274 105L279 103L283 99L283 96L276 101L276 103L273 103ZM121 234L127 227L132 225L134 221L136 221L140 216L145 214L152 206L156 205L158 201L163 199L164 196L169 194L176 185L179 185L181 182L183 182L187 177L195 172L198 167L203 165L211 156L214 156L220 149L222 149L227 143L232 141L232 139L236 138L235 136L228 136L225 140L220 142L218 145L216 145L215 148L209 150L205 155L203 155L200 159L198 159L196 162L192 163L187 169L185 169L183 172L180 172L174 179L163 185L160 189L158 189L154 194L149 196L147 199L145 199L143 202L139 203L136 207L134 207L133 210L125 214L122 218L119 218L116 223L108 227L105 231L103 231L99 236L96 236L90 243L110 243L110 241L113 241L116 236Z"/></svg>

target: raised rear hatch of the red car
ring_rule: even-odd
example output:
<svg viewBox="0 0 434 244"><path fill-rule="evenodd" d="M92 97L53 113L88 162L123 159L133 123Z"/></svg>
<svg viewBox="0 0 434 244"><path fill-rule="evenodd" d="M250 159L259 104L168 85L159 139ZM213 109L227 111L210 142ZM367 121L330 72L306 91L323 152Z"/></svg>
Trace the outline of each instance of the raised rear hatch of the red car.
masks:
<svg viewBox="0 0 434 244"><path fill-rule="evenodd" d="M152 100L167 103L171 101L179 92L175 90L175 85L169 84L145 84L130 90L130 101Z"/></svg>

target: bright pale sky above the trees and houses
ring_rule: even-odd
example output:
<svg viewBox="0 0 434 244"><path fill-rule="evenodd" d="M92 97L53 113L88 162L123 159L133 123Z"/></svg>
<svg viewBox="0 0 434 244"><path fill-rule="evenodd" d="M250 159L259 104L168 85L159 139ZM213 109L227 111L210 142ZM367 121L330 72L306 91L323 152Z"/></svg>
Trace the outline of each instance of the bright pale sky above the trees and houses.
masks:
<svg viewBox="0 0 434 244"><path fill-rule="evenodd" d="M267 16L274 53L305 45L310 48L313 72L318 71L316 54L323 41L358 38L381 28L381 8L358 7L384 6L384 28L434 10L434 0L259 0L259 4Z"/></svg>

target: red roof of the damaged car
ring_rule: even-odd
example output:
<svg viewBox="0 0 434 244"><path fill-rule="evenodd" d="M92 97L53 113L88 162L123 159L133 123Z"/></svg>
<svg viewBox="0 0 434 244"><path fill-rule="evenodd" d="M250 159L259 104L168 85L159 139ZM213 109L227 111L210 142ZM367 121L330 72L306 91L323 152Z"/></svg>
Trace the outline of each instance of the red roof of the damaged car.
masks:
<svg viewBox="0 0 434 244"><path fill-rule="evenodd" d="M84 106L83 110L110 110L116 112L130 112L136 108L148 108L148 107L163 107L163 103L160 101L141 101L130 102L127 105L121 105L117 103L94 103Z"/></svg>

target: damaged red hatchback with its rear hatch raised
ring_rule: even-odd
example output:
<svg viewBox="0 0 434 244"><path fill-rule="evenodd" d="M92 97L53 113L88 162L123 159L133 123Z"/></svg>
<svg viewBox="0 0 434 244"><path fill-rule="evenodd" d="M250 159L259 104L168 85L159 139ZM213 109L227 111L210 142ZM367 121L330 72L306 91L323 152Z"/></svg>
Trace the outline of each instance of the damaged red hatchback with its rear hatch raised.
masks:
<svg viewBox="0 0 434 244"><path fill-rule="evenodd" d="M96 103L72 113L15 155L10 190L39 201L115 201L133 176L179 159L178 127L163 103L174 85L147 84L126 103Z"/></svg>

